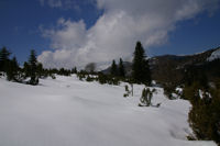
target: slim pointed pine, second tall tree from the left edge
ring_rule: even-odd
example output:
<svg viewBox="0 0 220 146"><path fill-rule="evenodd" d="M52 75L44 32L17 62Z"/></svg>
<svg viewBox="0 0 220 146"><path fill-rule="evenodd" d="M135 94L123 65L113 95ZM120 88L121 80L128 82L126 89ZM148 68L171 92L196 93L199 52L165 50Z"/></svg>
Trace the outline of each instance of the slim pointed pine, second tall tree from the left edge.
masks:
<svg viewBox="0 0 220 146"><path fill-rule="evenodd" d="M38 83L38 77L37 77L36 53L34 49L31 50L31 55L29 58L29 66L30 66L30 77L31 77L29 83L35 86Z"/></svg>

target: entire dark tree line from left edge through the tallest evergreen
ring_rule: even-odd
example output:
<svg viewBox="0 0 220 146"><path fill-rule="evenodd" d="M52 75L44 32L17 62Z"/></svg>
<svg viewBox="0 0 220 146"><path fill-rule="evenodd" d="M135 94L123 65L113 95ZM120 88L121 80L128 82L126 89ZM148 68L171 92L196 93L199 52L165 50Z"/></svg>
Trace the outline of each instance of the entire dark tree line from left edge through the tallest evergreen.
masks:
<svg viewBox="0 0 220 146"><path fill-rule="evenodd" d="M119 65L116 60L112 60L110 75L103 75L102 72L96 72L96 64L90 63L85 67L85 70L77 71L77 68L73 69L46 69L36 59L36 53L31 49L28 61L24 61L23 66L20 66L16 57L11 58L11 54L7 47L0 49L0 72L7 76L10 81L24 82L29 85L37 85L40 78L46 78L51 76L55 78L55 74L70 76L72 74L77 74L78 77L84 77L85 75L92 74L99 77L101 83L113 83L118 85L120 80L125 80L135 83L151 85L151 72L148 60L146 58L144 48L141 42L136 43L135 50L133 54L133 66L132 66L132 77L127 77L123 60L120 58ZM28 81L26 81L28 80ZM87 80L92 80L89 76Z"/></svg>

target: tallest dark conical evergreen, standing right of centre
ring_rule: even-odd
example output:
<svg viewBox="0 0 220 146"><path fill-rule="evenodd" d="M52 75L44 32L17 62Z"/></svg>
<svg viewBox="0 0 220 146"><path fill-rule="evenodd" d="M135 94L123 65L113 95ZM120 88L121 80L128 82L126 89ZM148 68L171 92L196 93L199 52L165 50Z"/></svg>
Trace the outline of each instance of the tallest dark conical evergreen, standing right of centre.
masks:
<svg viewBox="0 0 220 146"><path fill-rule="evenodd" d="M134 50L132 77L138 83L151 85L152 81L148 60L141 42L136 43Z"/></svg>

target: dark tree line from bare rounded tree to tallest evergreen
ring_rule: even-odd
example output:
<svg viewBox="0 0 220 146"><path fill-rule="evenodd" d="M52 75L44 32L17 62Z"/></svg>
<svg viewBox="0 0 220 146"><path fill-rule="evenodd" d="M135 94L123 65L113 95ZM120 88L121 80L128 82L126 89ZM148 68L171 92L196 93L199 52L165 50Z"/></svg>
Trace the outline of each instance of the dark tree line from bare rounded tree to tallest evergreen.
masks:
<svg viewBox="0 0 220 146"><path fill-rule="evenodd" d="M78 71L77 77L87 81L99 81L100 83L119 85L119 81L127 81L130 83L143 83L151 86L152 77L148 65L148 59L141 42L136 42L136 46L133 53L132 60L132 75L128 76L124 61L122 58L119 59L119 64L112 60L110 70L108 74L102 71L95 71L96 65L94 63L88 64L85 70ZM91 77L90 75L96 75Z"/></svg>

